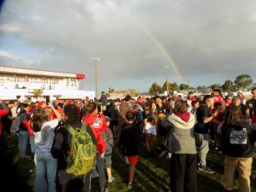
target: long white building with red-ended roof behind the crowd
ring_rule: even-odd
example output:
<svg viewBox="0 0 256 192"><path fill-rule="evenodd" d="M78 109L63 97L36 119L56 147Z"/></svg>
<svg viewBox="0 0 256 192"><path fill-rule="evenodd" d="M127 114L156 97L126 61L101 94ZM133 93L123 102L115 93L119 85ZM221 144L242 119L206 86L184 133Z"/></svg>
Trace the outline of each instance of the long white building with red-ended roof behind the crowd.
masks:
<svg viewBox="0 0 256 192"><path fill-rule="evenodd" d="M44 100L93 99L94 91L80 90L85 75L82 73L59 73L17 67L0 66L0 99Z"/></svg>

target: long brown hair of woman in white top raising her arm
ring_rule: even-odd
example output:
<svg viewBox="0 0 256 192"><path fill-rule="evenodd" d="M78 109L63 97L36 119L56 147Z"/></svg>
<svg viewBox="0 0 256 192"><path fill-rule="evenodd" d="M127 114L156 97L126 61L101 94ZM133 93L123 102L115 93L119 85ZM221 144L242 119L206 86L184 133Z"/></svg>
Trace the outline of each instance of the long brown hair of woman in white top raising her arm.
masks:
<svg viewBox="0 0 256 192"><path fill-rule="evenodd" d="M44 124L45 111L44 108L35 108L32 114L32 129L35 132L41 131Z"/></svg>

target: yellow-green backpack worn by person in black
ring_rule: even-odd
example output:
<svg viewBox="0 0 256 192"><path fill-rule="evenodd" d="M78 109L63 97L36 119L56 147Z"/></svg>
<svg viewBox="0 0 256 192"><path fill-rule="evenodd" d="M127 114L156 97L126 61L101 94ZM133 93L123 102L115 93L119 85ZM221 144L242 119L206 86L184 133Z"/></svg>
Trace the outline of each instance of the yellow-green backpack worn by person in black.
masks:
<svg viewBox="0 0 256 192"><path fill-rule="evenodd" d="M65 125L67 131L73 136L71 147L67 155L67 173L74 176L84 175L95 167L96 146L92 142L90 134L86 132L86 124L74 129L71 125Z"/></svg>

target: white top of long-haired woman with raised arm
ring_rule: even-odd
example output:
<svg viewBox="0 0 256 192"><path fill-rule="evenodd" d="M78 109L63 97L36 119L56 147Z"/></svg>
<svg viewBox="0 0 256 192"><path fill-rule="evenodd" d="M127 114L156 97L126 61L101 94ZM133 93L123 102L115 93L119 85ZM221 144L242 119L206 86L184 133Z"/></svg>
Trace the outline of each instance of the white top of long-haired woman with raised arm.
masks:
<svg viewBox="0 0 256 192"><path fill-rule="evenodd" d="M58 119L49 120L43 124L41 131L35 132L36 153L50 154L58 124Z"/></svg>

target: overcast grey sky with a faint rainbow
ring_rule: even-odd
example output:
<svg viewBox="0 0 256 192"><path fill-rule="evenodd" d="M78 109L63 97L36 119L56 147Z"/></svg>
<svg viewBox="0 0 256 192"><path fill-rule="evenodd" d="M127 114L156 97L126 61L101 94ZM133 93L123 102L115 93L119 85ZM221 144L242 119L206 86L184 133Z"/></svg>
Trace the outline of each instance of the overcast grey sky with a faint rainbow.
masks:
<svg viewBox="0 0 256 192"><path fill-rule="evenodd" d="M255 83L254 0L9 0L0 15L0 65L85 73L85 90L148 91L168 79Z"/></svg>

